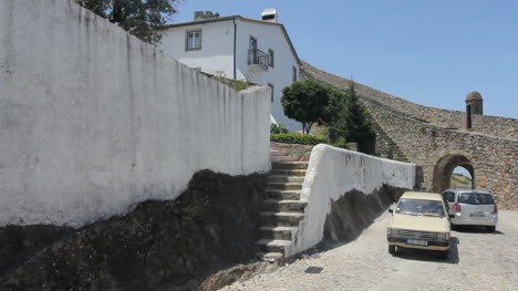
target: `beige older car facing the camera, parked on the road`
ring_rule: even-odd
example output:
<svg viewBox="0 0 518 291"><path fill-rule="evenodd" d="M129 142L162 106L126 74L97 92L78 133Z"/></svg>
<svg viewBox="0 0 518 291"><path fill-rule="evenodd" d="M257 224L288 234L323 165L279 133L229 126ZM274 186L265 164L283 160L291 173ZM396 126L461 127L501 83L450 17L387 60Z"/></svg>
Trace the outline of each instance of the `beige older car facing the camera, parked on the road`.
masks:
<svg viewBox="0 0 518 291"><path fill-rule="evenodd" d="M439 194L407 191L395 210L386 230L388 252L397 248L439 251L444 259L449 253L449 217Z"/></svg>

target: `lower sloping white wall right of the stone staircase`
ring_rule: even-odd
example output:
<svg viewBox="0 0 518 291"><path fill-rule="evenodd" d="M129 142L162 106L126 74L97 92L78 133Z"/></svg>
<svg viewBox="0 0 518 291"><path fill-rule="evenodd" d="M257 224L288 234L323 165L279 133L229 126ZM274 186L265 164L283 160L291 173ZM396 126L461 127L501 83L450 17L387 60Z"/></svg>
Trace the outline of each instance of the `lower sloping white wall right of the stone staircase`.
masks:
<svg viewBox="0 0 518 291"><path fill-rule="evenodd" d="M301 200L307 201L308 206L287 256L307 250L323 239L331 204L345 193L356 189L370 195L383 184L412 189L415 169L414 164L376 158L329 145L313 147L301 195Z"/></svg>

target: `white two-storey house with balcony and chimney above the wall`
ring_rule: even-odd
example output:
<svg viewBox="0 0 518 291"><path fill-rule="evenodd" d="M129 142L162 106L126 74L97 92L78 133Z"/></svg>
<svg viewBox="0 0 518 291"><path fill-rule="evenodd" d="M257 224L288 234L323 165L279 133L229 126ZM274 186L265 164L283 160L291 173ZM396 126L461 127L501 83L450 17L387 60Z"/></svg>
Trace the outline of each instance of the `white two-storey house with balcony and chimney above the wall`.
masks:
<svg viewBox="0 0 518 291"><path fill-rule="evenodd" d="M272 115L291 132L301 124L284 116L282 89L299 79L300 60L274 9L262 20L195 12L194 21L168 25L159 48L203 72L272 89Z"/></svg>

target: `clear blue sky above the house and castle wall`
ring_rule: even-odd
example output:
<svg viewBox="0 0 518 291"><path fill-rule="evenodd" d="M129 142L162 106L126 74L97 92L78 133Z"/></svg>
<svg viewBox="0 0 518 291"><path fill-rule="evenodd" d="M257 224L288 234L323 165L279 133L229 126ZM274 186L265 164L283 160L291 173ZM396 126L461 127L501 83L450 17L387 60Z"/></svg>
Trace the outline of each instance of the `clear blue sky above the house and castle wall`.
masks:
<svg viewBox="0 0 518 291"><path fill-rule="evenodd" d="M299 56L324 71L427 106L518 118L518 0L182 0L196 10L259 19L276 8Z"/></svg>

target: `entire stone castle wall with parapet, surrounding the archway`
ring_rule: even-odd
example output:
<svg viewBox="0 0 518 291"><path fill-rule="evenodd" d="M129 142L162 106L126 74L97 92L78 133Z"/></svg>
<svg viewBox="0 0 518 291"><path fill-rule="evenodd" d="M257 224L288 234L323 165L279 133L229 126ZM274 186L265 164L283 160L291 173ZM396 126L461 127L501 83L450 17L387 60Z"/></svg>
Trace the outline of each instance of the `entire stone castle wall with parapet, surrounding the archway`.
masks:
<svg viewBox="0 0 518 291"><path fill-rule="evenodd" d="M302 70L304 77L340 90L346 90L351 82L307 63ZM458 155L473 165L477 189L494 193L503 208L518 209L518 119L475 115L474 128L462 131L462 112L422 106L359 83L355 89L384 134L423 168L424 189L434 189L439 160ZM376 141L376 147L383 147L383 141Z"/></svg>

